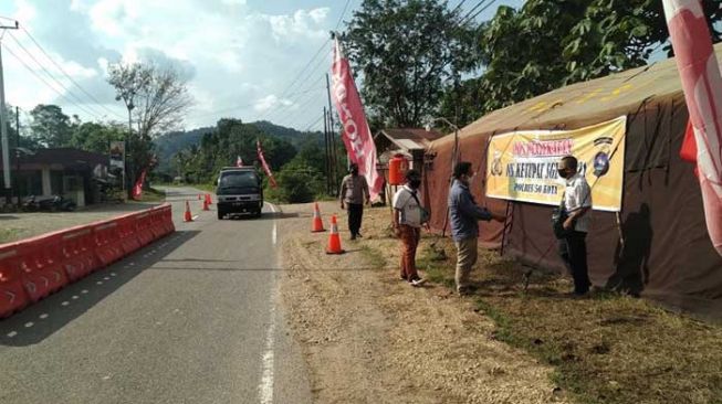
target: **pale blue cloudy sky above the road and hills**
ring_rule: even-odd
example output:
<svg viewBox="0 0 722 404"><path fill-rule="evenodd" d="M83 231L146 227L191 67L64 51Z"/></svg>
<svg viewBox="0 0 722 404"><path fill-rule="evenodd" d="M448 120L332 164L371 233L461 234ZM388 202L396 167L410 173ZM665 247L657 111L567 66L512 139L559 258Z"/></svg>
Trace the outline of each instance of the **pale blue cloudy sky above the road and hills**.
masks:
<svg viewBox="0 0 722 404"><path fill-rule="evenodd" d="M456 7L460 0L449 1ZM477 19L490 19L492 1ZM328 32L362 0L0 0L6 100L57 104L83 121L127 121L106 83L111 63L171 65L193 97L181 128L221 117L322 129ZM479 3L462 1L463 9ZM2 34L2 33L0 33Z"/></svg>

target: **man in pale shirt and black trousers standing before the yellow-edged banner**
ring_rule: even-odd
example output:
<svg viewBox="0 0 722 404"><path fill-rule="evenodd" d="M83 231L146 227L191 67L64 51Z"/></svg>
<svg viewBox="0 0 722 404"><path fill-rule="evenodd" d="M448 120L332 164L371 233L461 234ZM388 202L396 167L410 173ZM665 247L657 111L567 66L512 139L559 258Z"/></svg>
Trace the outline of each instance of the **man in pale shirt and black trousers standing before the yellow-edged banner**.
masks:
<svg viewBox="0 0 722 404"><path fill-rule="evenodd" d="M559 177L565 180L562 210L567 214L563 223L564 234L559 238L559 255L574 278L574 295L584 296L592 286L586 245L592 190L584 174L577 172L577 159L573 156L562 158L558 166Z"/></svg>

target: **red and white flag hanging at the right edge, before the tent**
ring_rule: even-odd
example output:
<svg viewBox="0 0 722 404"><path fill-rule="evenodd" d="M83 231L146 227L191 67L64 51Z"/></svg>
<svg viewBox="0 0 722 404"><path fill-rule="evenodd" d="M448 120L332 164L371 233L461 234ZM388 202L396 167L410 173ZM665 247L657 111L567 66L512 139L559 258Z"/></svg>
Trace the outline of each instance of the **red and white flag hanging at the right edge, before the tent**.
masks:
<svg viewBox="0 0 722 404"><path fill-rule="evenodd" d="M707 231L722 255L722 75L702 3L663 0L663 6L694 132Z"/></svg>

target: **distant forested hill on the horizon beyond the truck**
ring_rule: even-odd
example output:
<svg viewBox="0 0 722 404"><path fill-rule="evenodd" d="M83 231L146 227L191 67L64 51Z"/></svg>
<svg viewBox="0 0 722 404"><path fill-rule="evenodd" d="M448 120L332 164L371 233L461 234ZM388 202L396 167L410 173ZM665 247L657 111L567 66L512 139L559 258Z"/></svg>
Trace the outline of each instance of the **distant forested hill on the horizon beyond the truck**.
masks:
<svg viewBox="0 0 722 404"><path fill-rule="evenodd" d="M321 131L306 131L302 132L293 128L275 125L266 120L251 123L259 130L271 137L278 137L289 141L293 147L299 150L306 141L316 141L323 146L323 132ZM170 162L174 156L180 150L185 150L192 145L200 143L200 139L205 134L216 130L214 127L205 127L192 130L171 131L158 137L155 140L156 149L158 151L158 171L169 172Z"/></svg>

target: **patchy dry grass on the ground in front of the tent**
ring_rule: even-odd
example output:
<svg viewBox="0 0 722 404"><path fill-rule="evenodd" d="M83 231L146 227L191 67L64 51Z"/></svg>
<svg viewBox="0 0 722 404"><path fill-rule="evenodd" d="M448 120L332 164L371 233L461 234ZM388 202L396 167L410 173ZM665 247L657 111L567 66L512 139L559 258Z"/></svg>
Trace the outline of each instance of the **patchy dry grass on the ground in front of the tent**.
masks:
<svg viewBox="0 0 722 404"><path fill-rule="evenodd" d="M429 280L453 287L446 243L448 258L427 245L418 263ZM567 278L494 253L481 253L480 267L472 299L495 322L492 337L554 366L553 382L574 402L722 403L722 327L614 293L572 299Z"/></svg>

